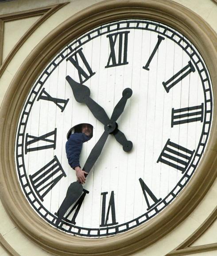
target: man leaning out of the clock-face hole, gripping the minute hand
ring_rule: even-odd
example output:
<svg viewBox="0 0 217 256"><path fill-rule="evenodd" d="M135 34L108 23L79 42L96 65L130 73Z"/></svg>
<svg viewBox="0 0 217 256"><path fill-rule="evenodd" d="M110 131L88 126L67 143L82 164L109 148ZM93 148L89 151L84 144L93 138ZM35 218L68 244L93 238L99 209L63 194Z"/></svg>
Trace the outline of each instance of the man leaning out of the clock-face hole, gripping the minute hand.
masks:
<svg viewBox="0 0 217 256"><path fill-rule="evenodd" d="M91 124L77 124L67 133L66 155L70 167L76 171L77 181L85 183L87 172L81 170L79 158L84 142L93 137L93 126Z"/></svg>

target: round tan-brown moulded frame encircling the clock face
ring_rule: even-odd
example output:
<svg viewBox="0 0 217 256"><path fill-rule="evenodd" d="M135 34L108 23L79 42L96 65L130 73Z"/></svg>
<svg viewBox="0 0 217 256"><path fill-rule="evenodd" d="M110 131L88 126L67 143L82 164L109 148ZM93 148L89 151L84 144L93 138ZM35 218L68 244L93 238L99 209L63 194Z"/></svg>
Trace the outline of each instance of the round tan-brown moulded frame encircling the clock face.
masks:
<svg viewBox="0 0 217 256"><path fill-rule="evenodd" d="M105 10L107 10L106 13ZM19 73L8 89L0 112L1 120L4 120L7 116L1 124L1 134L4 134L1 138L0 152L1 169L4 171L3 175L1 174L3 183L1 199L8 213L23 232L51 253L64 255L63 251L67 251L69 255L91 255L90 252L92 252L92 255L126 255L129 252L132 253L144 248L163 237L187 217L201 201L216 177L217 135L214 134L214 131L216 130L217 120L214 116L206 157L202 160L194 178L168 209L142 227L118 237L100 240L89 241L74 237L72 244L70 236L60 234L46 225L28 207L17 182L13 159L15 127L18 123L22 104L34 79L43 70L50 58L73 38L101 23L126 18L158 20L186 35L202 54L212 79L214 98L217 95L217 89L215 88L217 86L217 67L215 66L217 61L217 36L199 16L171 1L112 0L101 2L66 20L43 39L20 67ZM200 26L198 26L198 23ZM214 105L214 113L215 111L216 107ZM119 251L115 252L117 248Z"/></svg>

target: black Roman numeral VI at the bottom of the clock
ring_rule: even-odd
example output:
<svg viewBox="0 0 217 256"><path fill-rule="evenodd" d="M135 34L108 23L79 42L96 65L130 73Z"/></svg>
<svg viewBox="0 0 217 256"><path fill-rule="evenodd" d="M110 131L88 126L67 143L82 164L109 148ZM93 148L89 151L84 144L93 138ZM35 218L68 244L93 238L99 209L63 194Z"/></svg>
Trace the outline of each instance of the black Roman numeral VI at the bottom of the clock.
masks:
<svg viewBox="0 0 217 256"><path fill-rule="evenodd" d="M104 226L111 226L116 225L118 222L116 222L116 216L115 216L115 199L114 199L114 191L111 192L110 200L109 200L109 206L107 210L107 214L105 217L105 206L106 206L106 195L108 192L102 192L102 215L101 215L101 227ZM109 220L109 213L112 213L112 223L108 223Z"/></svg>

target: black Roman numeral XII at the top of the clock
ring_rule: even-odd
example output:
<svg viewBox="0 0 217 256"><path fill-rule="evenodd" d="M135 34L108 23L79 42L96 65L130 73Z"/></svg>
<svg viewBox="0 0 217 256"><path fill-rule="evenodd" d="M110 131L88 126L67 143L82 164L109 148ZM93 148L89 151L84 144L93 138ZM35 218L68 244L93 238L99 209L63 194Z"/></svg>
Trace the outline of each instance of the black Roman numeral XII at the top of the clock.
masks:
<svg viewBox="0 0 217 256"><path fill-rule="evenodd" d="M109 60L105 68L126 65L128 53L128 33L130 31L122 31L107 35L110 44Z"/></svg>

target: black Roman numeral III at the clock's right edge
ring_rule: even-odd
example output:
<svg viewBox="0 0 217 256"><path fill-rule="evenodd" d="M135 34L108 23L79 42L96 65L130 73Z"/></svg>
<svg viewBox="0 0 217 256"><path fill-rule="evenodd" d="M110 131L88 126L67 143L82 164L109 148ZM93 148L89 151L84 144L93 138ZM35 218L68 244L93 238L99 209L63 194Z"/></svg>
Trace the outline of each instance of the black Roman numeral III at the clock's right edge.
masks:
<svg viewBox="0 0 217 256"><path fill-rule="evenodd" d="M189 108L172 109L171 127L197 121L203 121L203 103Z"/></svg>

